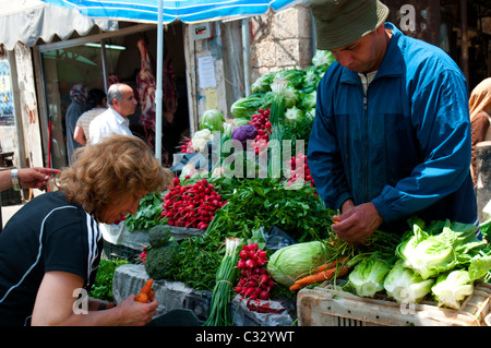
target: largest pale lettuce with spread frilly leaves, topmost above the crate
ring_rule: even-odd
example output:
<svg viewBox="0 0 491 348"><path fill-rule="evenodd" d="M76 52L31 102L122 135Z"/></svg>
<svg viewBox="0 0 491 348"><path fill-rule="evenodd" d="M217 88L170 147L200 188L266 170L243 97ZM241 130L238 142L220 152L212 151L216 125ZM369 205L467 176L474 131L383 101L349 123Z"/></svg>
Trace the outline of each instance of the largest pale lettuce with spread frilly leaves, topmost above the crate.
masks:
<svg viewBox="0 0 491 348"><path fill-rule="evenodd" d="M476 254L483 242L476 238L477 227L472 224L450 223L441 232L430 225L424 231L424 223L415 220L412 231L403 237L396 248L396 255L405 260L405 265L415 269L423 279L435 277L440 273L453 269L458 264L466 264Z"/></svg>

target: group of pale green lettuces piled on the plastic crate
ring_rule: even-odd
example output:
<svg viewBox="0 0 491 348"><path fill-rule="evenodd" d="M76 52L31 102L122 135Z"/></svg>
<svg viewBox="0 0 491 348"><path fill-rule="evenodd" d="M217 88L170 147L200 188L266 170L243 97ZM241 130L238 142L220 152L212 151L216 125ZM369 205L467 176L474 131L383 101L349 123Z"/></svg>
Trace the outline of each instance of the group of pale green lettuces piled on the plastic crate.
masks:
<svg viewBox="0 0 491 348"><path fill-rule="evenodd" d="M398 303L428 299L459 309L474 284L489 275L489 244L476 237L472 224L435 220L426 226L418 218L410 223L412 230L403 236L394 254L364 259L349 274L348 285L363 297L385 291Z"/></svg>

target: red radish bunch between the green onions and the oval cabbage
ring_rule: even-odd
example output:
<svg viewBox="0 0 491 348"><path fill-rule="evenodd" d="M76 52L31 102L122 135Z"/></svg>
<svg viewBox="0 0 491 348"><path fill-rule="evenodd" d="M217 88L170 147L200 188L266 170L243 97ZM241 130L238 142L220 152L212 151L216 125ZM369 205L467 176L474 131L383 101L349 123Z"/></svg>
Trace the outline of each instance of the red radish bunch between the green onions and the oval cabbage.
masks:
<svg viewBox="0 0 491 348"><path fill-rule="evenodd" d="M267 269L266 252L258 249L258 243L242 245L239 252L237 267L241 269L240 279L236 292L251 300L267 300L275 281L271 278Z"/></svg>

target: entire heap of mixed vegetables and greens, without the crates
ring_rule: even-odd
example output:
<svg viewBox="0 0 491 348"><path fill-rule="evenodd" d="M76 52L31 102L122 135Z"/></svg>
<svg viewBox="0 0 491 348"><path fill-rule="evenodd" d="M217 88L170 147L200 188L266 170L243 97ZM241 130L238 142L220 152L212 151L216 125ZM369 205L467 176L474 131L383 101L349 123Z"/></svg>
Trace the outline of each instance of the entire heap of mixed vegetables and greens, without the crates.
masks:
<svg viewBox="0 0 491 348"><path fill-rule="evenodd" d="M220 144L236 140L242 145L240 152L230 149L237 160L246 164L250 154L270 159L266 177L259 176L261 166L253 167L253 176L224 176L226 166L235 168L220 153L211 176L194 168L183 171L156 203L161 209L158 220L153 217L157 225L197 228L203 235L178 243L169 231L151 229L145 269L154 279L213 291L205 325L232 324L233 295L268 301L279 295L294 297L306 287L340 284L362 297L384 296L397 302L432 299L438 305L459 308L476 281L489 280L489 244L477 240L469 226L411 220L412 229L403 237L378 230L357 245L333 233L335 212L316 194L306 156L316 86L333 61L331 52L318 50L307 70L259 77L252 94L233 103L228 117L218 110L204 112L200 130L181 147L183 153L203 152L215 141L214 132L220 132ZM303 141L303 152L272 160L272 144L283 146L284 140L291 141L291 149ZM283 166L288 170L280 170ZM278 170L283 176L273 176ZM296 243L263 248L263 232L273 226Z"/></svg>

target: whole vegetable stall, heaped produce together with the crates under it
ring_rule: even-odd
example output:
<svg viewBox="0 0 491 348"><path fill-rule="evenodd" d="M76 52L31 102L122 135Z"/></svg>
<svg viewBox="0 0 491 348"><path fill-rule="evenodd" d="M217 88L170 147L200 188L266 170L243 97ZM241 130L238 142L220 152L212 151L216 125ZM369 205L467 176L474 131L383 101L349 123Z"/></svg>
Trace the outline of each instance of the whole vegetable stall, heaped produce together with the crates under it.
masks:
<svg viewBox="0 0 491 348"><path fill-rule="evenodd" d="M202 116L173 187L120 223L146 239L115 274L118 299L152 279L159 313L191 309L208 326L489 325L491 223L483 239L471 224L417 217L363 244L331 230L304 154L332 61L318 51L307 70L260 77L230 116Z"/></svg>

